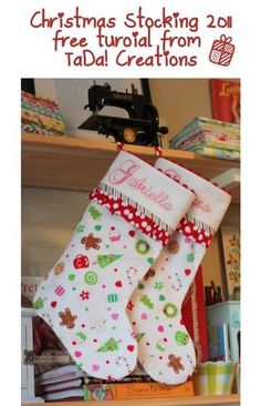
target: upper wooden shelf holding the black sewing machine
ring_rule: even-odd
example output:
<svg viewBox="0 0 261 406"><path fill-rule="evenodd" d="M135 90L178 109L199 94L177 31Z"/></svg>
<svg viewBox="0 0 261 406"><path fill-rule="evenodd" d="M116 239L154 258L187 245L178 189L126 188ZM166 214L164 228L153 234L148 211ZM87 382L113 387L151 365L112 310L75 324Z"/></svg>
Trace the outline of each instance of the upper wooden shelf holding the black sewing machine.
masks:
<svg viewBox="0 0 261 406"><path fill-rule="evenodd" d="M125 151L154 163L154 149L125 145ZM22 185L88 192L97 185L117 154L116 144L70 136L22 133ZM205 158L188 151L164 150L163 155L212 179L239 162ZM230 193L239 201L239 186Z"/></svg>

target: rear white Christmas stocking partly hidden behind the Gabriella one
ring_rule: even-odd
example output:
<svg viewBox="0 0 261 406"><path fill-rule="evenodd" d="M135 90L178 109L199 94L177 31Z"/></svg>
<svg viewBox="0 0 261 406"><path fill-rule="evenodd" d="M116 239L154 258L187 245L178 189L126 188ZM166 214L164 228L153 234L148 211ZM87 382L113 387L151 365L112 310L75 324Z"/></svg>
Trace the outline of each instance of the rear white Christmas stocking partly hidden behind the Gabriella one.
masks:
<svg viewBox="0 0 261 406"><path fill-rule="evenodd" d="M181 304L230 203L212 183L165 159L155 166L196 193L196 200L127 305L138 341L138 361L161 383L176 385L194 373L196 355Z"/></svg>

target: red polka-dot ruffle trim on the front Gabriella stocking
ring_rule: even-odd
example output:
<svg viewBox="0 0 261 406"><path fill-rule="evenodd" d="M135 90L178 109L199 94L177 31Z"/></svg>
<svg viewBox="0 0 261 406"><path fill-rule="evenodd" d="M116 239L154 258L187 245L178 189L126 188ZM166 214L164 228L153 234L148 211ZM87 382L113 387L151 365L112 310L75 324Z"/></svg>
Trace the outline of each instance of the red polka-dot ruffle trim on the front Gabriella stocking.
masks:
<svg viewBox="0 0 261 406"><path fill-rule="evenodd" d="M126 196L115 195L112 189L105 190L106 186L97 186L91 194L90 199L101 205L105 205L112 214L118 214L129 224L139 229L144 234L158 240L165 246L168 243L173 230L163 223L158 217L147 212L145 207Z"/></svg>

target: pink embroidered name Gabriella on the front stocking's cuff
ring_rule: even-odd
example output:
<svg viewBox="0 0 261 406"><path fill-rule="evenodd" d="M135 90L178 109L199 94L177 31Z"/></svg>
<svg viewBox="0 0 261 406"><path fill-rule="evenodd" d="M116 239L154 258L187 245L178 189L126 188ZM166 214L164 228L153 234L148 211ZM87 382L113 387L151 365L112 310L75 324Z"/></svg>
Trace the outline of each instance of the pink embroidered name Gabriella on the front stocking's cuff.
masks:
<svg viewBox="0 0 261 406"><path fill-rule="evenodd" d="M112 184L126 183L133 189L139 191L144 196L148 197L153 202L157 203L160 207L170 211L174 210L173 204L169 202L169 195L165 192L156 191L147 182L146 177L137 179L134 173L139 170L139 165L132 160L126 160L122 165L114 170L108 180Z"/></svg>

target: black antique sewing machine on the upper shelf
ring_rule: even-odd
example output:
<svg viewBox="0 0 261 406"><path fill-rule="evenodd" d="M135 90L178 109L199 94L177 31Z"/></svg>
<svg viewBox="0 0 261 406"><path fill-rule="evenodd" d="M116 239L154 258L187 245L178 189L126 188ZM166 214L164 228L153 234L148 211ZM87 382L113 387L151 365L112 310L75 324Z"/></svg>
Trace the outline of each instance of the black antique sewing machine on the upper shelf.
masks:
<svg viewBox="0 0 261 406"><path fill-rule="evenodd" d="M105 106L122 108L128 113L128 119L101 115L98 112ZM159 126L157 109L145 98L137 94L132 85L132 93L112 91L111 85L93 84L88 90L88 104L93 114L79 129L97 131L98 134L113 135L116 142L157 146L158 134L167 134L168 128Z"/></svg>

